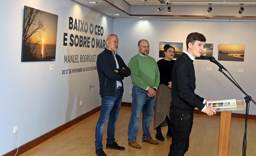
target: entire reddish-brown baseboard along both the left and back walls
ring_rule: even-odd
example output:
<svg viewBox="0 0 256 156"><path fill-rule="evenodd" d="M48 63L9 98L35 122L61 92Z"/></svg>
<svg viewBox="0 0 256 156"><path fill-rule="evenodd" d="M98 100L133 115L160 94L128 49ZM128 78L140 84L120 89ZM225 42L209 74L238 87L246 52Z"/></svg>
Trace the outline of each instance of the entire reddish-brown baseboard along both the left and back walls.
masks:
<svg viewBox="0 0 256 156"><path fill-rule="evenodd" d="M132 103L130 103L130 102L122 102L121 106L131 107ZM73 120L71 120L71 121L69 121L69 122L67 122L67 123L57 127L57 128L55 128L53 130L51 130L51 131L49 131L49 132L39 136L38 138L33 139L32 141L30 141L30 142L28 142L28 143L26 143L26 144L24 144L22 146L20 146L19 147L19 151L17 153L17 156L21 155L22 153L25 153L26 151L36 147L37 145L39 145L39 144L41 144L43 142L45 142L49 138L59 134L60 132L68 129L69 127L71 127L71 126L73 126L75 124L77 124L78 122L80 122L80 121L88 118L89 116L97 113L98 111L100 111L100 108L101 108L101 106L98 106L98 107L94 108L93 110L91 110L91 111L89 111L89 112L87 112L87 113L85 113L85 114L83 114L83 115L81 115L81 116L79 116L79 117L77 117L77 118L75 118L75 119L73 119ZM201 112L200 110L195 110L194 113L195 114L207 115L207 114ZM220 116L220 112L216 112L215 116ZM245 119L245 114L232 113L231 118ZM256 115L249 115L248 119L256 120ZM17 152L17 148L12 150L12 151L10 151L10 152L8 152L8 153L6 153L6 154L4 154L4 155L2 155L2 156L14 156L16 154L16 152Z"/></svg>

